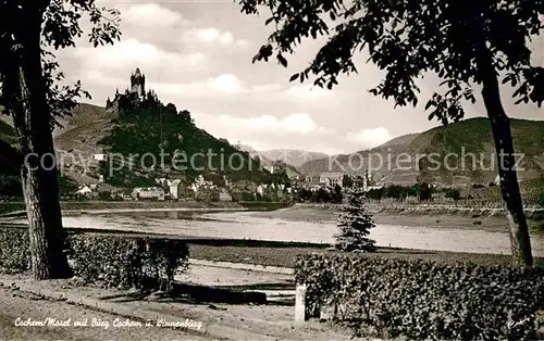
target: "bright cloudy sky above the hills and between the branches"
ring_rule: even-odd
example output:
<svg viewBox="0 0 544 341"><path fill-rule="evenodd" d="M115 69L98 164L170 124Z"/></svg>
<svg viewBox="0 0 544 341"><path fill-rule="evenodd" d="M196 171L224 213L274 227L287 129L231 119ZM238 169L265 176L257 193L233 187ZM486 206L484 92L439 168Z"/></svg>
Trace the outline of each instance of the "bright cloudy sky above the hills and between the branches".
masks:
<svg viewBox="0 0 544 341"><path fill-rule="evenodd" d="M178 111L188 110L198 127L257 150L349 153L438 125L424 112L437 79L429 76L420 81L417 108L394 109L393 101L368 92L383 74L364 63L364 52L356 59L359 73L342 77L333 90L288 81L311 62L323 40L304 42L288 56L287 68L275 60L252 64L271 28L264 26L267 13L248 16L237 2L98 2L121 12L122 40L92 48L83 37L76 48L58 52L66 80L82 80L91 93L92 100L86 102L104 105L115 88L124 91L129 86L131 74L139 67L146 89ZM534 63L544 66L544 39L534 43L533 51ZM544 108L514 105L511 92L503 91L510 117L544 118ZM485 111L479 101L466 106L466 113L474 117Z"/></svg>

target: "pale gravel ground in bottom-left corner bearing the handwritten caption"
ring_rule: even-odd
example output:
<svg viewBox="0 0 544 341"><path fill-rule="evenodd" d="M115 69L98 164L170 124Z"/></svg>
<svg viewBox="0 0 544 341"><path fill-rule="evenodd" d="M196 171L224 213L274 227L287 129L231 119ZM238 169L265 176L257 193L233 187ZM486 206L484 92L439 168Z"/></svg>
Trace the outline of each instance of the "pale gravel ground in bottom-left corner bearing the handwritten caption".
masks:
<svg viewBox="0 0 544 341"><path fill-rule="evenodd" d="M63 302L48 301L9 289L0 289L0 340L2 341L208 340L183 330L157 327L156 321L151 321L151 327L145 327L144 321L131 320ZM70 318L70 326L51 326L54 323L48 318L57 319L59 324ZM87 327L74 326L76 321L84 320L87 320ZM24 326L29 323L45 323L49 326ZM140 327L136 326L138 323L141 324Z"/></svg>

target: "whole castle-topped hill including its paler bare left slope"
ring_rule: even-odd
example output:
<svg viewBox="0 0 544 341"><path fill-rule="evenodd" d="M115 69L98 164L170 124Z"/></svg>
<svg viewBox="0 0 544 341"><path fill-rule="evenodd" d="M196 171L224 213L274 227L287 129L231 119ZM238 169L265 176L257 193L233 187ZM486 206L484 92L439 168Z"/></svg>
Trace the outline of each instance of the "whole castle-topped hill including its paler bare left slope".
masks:
<svg viewBox="0 0 544 341"><path fill-rule="evenodd" d="M225 177L244 180L244 187L286 181L285 173L271 174L247 152L197 127L188 111L163 105L154 92L144 91L145 80L137 84L133 77L131 89L108 99L106 108L78 104L53 131L59 167L67 178L97 184L106 175L107 182L123 188L154 186L158 177L190 181L198 175L218 185ZM0 138L5 129L11 127L2 122ZM110 164L95 160L106 153L115 155Z"/></svg>

